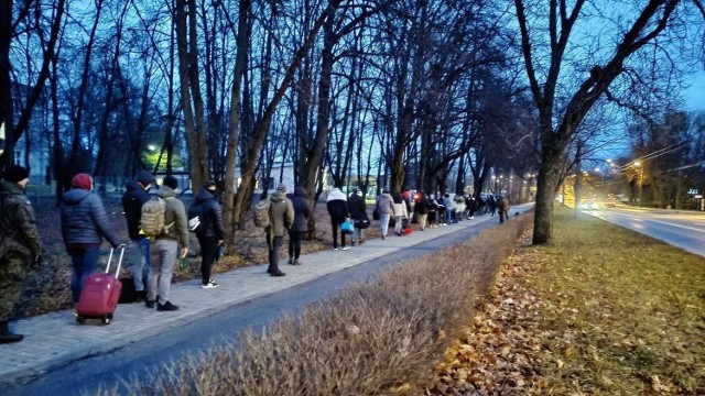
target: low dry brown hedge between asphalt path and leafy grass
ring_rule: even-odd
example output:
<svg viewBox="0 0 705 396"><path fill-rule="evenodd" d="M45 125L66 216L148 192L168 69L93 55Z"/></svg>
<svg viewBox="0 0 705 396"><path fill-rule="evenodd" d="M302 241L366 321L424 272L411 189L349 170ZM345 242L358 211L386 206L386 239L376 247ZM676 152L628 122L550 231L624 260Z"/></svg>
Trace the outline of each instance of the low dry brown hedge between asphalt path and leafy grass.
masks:
<svg viewBox="0 0 705 396"><path fill-rule="evenodd" d="M237 348L212 349L126 387L139 395L421 394L452 339L445 334L471 318L530 219L386 271L299 317L246 331Z"/></svg>

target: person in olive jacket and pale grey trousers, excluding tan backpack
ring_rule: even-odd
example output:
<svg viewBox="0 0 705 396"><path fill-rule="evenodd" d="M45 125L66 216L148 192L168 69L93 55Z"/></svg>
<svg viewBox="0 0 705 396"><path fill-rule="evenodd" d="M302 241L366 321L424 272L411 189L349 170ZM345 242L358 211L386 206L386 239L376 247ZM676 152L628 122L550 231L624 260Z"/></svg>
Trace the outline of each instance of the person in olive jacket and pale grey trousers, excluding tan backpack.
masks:
<svg viewBox="0 0 705 396"><path fill-rule="evenodd" d="M162 186L156 191L156 196L164 200L164 224L169 227L165 232L155 237L150 245L150 274L147 278L147 302L148 308L158 311L175 311L178 306L169 300L174 265L177 256L186 258L188 254L188 218L184 202L176 198L178 180L174 176L166 176Z"/></svg>

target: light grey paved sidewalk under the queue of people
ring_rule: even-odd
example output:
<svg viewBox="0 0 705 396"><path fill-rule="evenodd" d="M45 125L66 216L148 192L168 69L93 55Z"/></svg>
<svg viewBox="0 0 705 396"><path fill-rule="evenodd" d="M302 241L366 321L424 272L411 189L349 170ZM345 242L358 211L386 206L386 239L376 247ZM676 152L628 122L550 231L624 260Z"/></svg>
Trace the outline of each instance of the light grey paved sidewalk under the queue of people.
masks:
<svg viewBox="0 0 705 396"><path fill-rule="evenodd" d="M510 216L516 211L523 210L520 207L512 208ZM485 215L457 224L425 231L415 230L406 237L395 237L390 231L384 241L367 240L362 245L350 248L348 251L327 250L302 255L303 265L299 266L288 265L286 260L282 258L280 267L286 273L283 277L269 276L265 272L267 265L263 264L216 274L215 278L220 286L214 289L202 289L200 279L173 284L170 300L180 306L178 311L159 312L155 309L147 309L144 304L121 304L113 321L108 326L102 324L100 320L88 320L86 324L78 324L73 310L10 323L11 329L24 336L24 340L14 344L0 344L0 384L41 376L53 367L69 364L75 360L111 351L156 336L171 327L197 321L228 307L486 221L498 221L498 218ZM150 320L144 320L147 317Z"/></svg>

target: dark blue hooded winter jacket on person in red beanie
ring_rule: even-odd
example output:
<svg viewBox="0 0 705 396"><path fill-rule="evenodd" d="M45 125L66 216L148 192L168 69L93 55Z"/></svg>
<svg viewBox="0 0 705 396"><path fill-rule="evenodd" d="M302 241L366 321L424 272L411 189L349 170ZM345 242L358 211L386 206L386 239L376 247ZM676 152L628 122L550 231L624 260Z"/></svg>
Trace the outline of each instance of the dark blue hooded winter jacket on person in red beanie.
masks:
<svg viewBox="0 0 705 396"><path fill-rule="evenodd" d="M102 201L96 194L83 188L67 191L64 194L61 212L62 237L66 246L99 245L102 237L112 248L120 244Z"/></svg>

